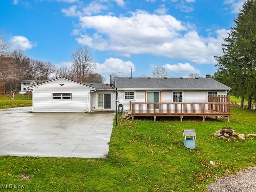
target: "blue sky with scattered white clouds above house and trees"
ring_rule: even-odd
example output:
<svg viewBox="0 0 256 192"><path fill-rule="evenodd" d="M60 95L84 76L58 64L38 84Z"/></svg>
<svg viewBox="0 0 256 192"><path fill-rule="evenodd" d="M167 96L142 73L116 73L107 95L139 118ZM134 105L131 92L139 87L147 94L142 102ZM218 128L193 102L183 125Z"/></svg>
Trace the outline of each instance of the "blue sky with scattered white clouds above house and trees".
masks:
<svg viewBox="0 0 256 192"><path fill-rule="evenodd" d="M156 65L171 77L205 77L216 72L214 56L243 2L1 0L0 30L13 50L54 65L70 66L72 52L86 46L107 79L131 68L133 77L152 76Z"/></svg>

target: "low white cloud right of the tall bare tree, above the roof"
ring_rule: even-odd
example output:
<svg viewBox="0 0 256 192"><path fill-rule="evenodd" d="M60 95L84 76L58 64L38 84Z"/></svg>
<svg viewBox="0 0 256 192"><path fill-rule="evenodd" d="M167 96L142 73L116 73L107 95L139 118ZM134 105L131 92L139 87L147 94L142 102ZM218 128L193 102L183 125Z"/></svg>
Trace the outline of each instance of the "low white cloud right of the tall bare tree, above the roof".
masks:
<svg viewBox="0 0 256 192"><path fill-rule="evenodd" d="M123 61L118 58L108 58L103 64L96 63L95 71L99 74L109 75L116 73L117 75L122 76L122 74L118 73L119 71L129 76L131 68L132 72L135 72L135 65L131 61Z"/></svg>

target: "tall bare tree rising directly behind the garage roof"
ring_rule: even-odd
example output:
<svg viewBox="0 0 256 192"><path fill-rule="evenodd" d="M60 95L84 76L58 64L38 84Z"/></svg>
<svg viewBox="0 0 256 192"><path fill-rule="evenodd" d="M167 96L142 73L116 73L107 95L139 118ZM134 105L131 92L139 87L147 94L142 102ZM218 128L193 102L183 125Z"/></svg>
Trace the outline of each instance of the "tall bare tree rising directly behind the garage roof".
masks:
<svg viewBox="0 0 256 192"><path fill-rule="evenodd" d="M96 66L92 54L88 48L79 47L72 53L71 59L73 61L71 66L72 80L84 82Z"/></svg>

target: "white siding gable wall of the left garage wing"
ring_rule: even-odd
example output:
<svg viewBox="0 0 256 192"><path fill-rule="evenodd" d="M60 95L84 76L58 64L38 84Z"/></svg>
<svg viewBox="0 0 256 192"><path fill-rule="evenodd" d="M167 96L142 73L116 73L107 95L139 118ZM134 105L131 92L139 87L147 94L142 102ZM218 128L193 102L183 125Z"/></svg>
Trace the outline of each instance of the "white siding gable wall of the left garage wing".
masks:
<svg viewBox="0 0 256 192"><path fill-rule="evenodd" d="M89 92L89 87L64 78L40 84L33 88L33 112L88 112ZM52 100L52 93L70 93L72 99Z"/></svg>

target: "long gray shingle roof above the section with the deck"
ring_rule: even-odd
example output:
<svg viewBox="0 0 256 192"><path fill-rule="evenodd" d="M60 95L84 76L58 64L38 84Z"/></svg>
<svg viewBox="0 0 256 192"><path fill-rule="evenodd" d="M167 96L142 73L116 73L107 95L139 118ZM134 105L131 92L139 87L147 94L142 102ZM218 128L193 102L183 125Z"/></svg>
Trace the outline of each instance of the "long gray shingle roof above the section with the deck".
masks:
<svg viewBox="0 0 256 192"><path fill-rule="evenodd" d="M230 90L212 78L116 78L120 90Z"/></svg>

